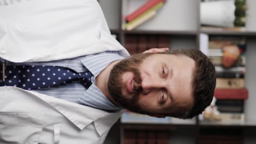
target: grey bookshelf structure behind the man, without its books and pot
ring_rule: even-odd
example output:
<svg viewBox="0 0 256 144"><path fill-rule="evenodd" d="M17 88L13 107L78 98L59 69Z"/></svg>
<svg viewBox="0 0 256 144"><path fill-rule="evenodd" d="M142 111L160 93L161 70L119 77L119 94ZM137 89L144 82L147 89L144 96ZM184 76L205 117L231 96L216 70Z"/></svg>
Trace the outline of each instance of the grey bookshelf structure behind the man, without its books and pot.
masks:
<svg viewBox="0 0 256 144"><path fill-rule="evenodd" d="M124 129L163 130L169 132L171 144L198 144L200 131L205 128L235 129L243 133L244 144L254 144L256 138L253 130L256 128L256 5L255 0L247 0L248 17L246 31L212 31L203 30L200 25L201 0L167 0L164 7L157 15L146 21L134 30L123 29L124 16L136 9L147 0L98 0L107 19L110 31L117 35L117 40L124 45L127 35L168 35L170 48L199 48L200 34L209 36L245 36L246 50L246 75L245 86L249 91L249 99L245 101L245 123L202 123L195 117L192 120L173 120L168 124L138 124L121 123L120 120L111 128L104 144L123 144Z"/></svg>

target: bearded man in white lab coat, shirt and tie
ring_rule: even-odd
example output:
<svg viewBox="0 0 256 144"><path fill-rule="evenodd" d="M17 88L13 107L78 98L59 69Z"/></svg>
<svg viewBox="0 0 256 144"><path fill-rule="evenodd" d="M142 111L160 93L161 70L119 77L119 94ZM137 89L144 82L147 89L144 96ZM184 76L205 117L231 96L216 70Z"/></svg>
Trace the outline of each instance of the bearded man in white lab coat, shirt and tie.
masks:
<svg viewBox="0 0 256 144"><path fill-rule="evenodd" d="M1 143L101 144L123 109L185 119L213 98L215 70L203 53L129 57L96 1L17 2L0 7L0 18Z"/></svg>

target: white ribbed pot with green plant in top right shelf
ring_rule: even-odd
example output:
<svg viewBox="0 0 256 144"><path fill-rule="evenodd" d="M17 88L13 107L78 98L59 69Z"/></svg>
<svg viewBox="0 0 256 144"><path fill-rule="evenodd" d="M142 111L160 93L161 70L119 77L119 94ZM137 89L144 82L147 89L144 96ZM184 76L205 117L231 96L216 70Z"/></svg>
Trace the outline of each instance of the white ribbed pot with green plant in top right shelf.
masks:
<svg viewBox="0 0 256 144"><path fill-rule="evenodd" d="M200 20L203 25L226 27L235 31L239 31L237 27L245 27L247 9L245 0L201 2L200 8Z"/></svg>

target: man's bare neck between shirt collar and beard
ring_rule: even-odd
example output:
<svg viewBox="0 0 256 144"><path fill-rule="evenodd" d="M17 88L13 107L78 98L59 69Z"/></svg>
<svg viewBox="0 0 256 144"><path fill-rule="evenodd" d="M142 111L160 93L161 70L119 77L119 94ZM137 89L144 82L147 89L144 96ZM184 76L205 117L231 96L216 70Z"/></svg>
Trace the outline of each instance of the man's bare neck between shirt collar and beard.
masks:
<svg viewBox="0 0 256 144"><path fill-rule="evenodd" d="M117 64L119 61L121 60L117 60L117 61L113 61L112 63L110 63L105 69L103 69L101 71L101 73L99 73L99 75L96 77L96 86L102 91L102 93L107 97L107 99L109 99L109 101L111 101L113 104L117 105L117 102L114 101L114 99L112 98L112 96L110 96L109 91L108 91L108 87L107 87L107 83L109 80L109 75L110 75L110 71L111 69L114 67L115 64Z"/></svg>

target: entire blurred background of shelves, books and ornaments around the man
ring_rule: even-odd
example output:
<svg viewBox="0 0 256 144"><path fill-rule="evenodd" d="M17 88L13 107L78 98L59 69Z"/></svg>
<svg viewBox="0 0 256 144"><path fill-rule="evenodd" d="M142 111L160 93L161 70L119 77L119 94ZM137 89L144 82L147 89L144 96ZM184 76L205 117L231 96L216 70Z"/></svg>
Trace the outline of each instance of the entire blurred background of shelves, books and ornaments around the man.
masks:
<svg viewBox="0 0 256 144"><path fill-rule="evenodd" d="M215 98L191 120L125 112L104 144L256 144L256 0L98 0L129 53L197 48L216 66Z"/></svg>

